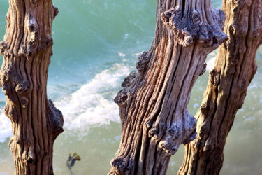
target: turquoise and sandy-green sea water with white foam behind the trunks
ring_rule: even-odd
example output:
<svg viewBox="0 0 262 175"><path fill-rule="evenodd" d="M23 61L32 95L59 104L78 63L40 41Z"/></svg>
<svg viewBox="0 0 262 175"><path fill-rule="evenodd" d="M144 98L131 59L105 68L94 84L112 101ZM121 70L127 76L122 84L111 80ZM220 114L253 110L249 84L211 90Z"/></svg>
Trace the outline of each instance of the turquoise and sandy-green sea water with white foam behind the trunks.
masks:
<svg viewBox="0 0 262 175"><path fill-rule="evenodd" d="M221 0L213 1L221 8ZM64 113L64 133L54 144L54 174L69 174L66 160L77 152L82 160L74 174L107 174L119 146L118 107L113 103L125 76L135 69L136 57L148 50L155 29L156 1L58 1L52 28L54 56L48 77L48 98ZM0 0L0 37L5 33L8 1ZM208 56L212 68L216 53ZM247 98L226 140L221 174L262 174L262 48L256 55L259 69ZM2 58L1 58L2 60ZM201 104L208 73L198 78L189 111ZM0 94L0 174L13 174L8 148L11 126L3 114ZM176 174L184 146L170 161L168 174Z"/></svg>

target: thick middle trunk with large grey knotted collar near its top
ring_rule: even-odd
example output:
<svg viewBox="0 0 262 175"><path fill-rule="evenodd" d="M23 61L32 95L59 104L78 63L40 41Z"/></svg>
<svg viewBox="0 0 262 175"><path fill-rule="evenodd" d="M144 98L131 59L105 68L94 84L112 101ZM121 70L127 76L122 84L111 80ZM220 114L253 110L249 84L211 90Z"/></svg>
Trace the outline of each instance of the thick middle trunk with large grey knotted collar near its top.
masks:
<svg viewBox="0 0 262 175"><path fill-rule="evenodd" d="M187 104L206 56L227 38L224 18L210 0L157 1L152 47L115 98L122 139L110 174L166 174L170 156L196 137Z"/></svg>

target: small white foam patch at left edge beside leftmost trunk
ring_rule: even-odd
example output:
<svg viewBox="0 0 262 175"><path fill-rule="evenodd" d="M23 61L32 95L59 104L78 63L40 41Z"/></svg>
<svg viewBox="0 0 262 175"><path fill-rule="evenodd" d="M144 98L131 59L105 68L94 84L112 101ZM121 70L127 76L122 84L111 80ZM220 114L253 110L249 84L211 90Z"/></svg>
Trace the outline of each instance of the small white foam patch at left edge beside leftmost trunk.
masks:
<svg viewBox="0 0 262 175"><path fill-rule="evenodd" d="M6 117L3 109L0 109L0 142L5 142L6 138L11 137L12 134L11 122Z"/></svg>

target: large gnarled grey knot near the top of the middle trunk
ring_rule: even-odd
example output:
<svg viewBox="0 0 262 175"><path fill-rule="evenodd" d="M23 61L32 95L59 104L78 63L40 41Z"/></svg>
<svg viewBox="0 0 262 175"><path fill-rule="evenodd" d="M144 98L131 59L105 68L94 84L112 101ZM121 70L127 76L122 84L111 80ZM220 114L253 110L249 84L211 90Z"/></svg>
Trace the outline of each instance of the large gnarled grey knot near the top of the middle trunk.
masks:
<svg viewBox="0 0 262 175"><path fill-rule="evenodd" d="M192 9L190 15L182 14L182 8L170 8L161 14L161 19L165 25L170 27L173 34L181 45L186 47L193 41L204 43L204 46L218 47L228 38L221 30L224 27L225 15L221 10L215 10L217 18L215 24L203 22L200 13Z"/></svg>

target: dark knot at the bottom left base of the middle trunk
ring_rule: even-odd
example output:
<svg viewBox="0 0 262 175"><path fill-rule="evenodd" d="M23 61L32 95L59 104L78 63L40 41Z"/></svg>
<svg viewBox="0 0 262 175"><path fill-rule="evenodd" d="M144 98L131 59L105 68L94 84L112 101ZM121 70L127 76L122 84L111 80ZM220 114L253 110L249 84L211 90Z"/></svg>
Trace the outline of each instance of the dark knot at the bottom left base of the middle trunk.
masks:
<svg viewBox="0 0 262 175"><path fill-rule="evenodd" d="M115 158L111 161L112 171L115 174L132 174L133 161L127 158Z"/></svg>

